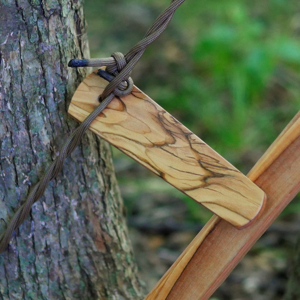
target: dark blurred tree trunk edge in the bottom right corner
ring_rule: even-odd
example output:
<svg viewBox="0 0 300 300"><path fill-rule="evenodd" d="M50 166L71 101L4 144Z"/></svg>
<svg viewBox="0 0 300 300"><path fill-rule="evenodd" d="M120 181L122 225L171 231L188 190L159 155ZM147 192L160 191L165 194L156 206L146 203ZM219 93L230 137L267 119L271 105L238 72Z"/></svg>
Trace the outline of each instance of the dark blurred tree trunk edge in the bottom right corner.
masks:
<svg viewBox="0 0 300 300"><path fill-rule="evenodd" d="M300 298L300 236L295 246L295 253L290 265L289 281L286 286L285 300Z"/></svg>

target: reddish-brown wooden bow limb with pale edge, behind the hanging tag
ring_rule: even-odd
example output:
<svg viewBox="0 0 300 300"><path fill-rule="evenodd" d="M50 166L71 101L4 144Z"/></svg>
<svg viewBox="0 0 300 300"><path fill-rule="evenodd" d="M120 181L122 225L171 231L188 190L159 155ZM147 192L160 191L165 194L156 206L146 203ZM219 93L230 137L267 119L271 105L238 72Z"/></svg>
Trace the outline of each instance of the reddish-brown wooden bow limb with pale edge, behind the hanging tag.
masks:
<svg viewBox="0 0 300 300"><path fill-rule="evenodd" d="M256 221L237 230L213 216L145 300L207 300L300 190L300 112L248 174L267 194Z"/></svg>

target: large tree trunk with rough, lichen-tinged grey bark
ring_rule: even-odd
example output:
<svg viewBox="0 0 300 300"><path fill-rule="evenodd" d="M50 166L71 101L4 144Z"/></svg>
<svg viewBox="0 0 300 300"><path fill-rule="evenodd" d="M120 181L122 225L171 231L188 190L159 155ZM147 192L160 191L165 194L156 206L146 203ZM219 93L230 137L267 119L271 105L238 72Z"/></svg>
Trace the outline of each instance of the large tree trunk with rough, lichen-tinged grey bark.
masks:
<svg viewBox="0 0 300 300"><path fill-rule="evenodd" d="M77 126L82 4L0 0L0 232ZM88 133L0 255L0 299L139 299L107 143Z"/></svg>

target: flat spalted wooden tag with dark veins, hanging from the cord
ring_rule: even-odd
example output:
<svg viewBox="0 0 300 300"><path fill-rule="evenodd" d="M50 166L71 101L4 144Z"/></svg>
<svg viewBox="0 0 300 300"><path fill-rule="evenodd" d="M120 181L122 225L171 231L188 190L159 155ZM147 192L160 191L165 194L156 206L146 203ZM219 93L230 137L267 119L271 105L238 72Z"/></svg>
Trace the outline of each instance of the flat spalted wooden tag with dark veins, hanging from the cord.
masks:
<svg viewBox="0 0 300 300"><path fill-rule="evenodd" d="M82 122L106 85L91 73L68 113ZM90 129L235 226L248 225L263 206L259 187L136 87L114 98Z"/></svg>

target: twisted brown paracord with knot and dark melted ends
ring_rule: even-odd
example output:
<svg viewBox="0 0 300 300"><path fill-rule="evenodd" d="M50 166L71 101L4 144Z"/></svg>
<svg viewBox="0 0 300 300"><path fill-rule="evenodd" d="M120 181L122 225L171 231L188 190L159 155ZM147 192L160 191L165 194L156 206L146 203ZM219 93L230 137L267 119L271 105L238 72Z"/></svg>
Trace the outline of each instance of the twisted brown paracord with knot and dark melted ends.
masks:
<svg viewBox="0 0 300 300"><path fill-rule="evenodd" d="M143 40L137 43L126 55L116 52L113 53L109 58L70 60L68 64L69 67L106 66L106 70L100 70L99 75L109 81L109 84L106 86L100 96L100 105L86 117L86 119L75 131L73 131L73 133L64 143L59 155L47 170L46 174L29 193L26 202L19 207L19 209L11 218L6 232L0 236L0 253L3 252L3 250L7 247L13 231L18 228L29 215L33 203L35 203L44 194L49 181L58 173L60 173L64 164L64 160L76 148L91 122L107 107L107 105L115 96L122 97L131 92L133 88L133 81L130 77L132 69L140 60L147 46L155 41L166 29L173 17L175 10L184 1L185 0L172 0L169 7L158 16L158 18L149 28Z"/></svg>

